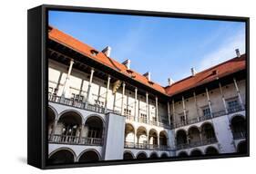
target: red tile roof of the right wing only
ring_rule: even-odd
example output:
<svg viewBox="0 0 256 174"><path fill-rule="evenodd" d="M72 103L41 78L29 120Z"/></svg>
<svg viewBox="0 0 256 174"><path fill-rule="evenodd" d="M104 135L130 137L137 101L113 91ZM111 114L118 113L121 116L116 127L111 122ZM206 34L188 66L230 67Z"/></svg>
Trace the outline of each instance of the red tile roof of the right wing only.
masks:
<svg viewBox="0 0 256 174"><path fill-rule="evenodd" d="M179 92L184 92L190 88L200 86L207 82L216 80L217 77L221 78L231 73L236 73L244 70L246 54L242 54L241 57L230 59L227 62L220 63L200 73L196 73L194 76L189 76L179 82L174 82L172 85L166 87L166 92L169 95L174 95Z"/></svg>

